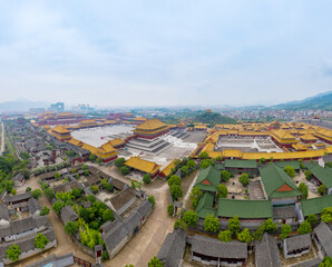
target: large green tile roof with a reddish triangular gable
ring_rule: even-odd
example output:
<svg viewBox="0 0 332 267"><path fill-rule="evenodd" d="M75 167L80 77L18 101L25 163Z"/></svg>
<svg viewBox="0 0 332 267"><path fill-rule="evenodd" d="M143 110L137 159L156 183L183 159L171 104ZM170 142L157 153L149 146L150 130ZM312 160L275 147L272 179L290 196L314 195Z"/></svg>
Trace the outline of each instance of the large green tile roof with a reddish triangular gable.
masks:
<svg viewBox="0 0 332 267"><path fill-rule="evenodd" d="M270 164L267 167L260 169L260 172L263 186L270 199L302 196L302 192L297 189L291 177L276 165ZM276 191L284 185L287 185L293 190Z"/></svg>

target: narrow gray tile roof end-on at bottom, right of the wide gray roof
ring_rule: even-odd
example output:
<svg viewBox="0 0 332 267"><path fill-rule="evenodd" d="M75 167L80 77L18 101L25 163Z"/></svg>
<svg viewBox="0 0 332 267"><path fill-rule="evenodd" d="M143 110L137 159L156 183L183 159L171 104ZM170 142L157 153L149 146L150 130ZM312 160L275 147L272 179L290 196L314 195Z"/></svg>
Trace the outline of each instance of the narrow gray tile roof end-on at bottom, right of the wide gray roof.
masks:
<svg viewBox="0 0 332 267"><path fill-rule="evenodd" d="M276 240L265 233L260 241L255 241L256 267L279 267L281 259Z"/></svg>

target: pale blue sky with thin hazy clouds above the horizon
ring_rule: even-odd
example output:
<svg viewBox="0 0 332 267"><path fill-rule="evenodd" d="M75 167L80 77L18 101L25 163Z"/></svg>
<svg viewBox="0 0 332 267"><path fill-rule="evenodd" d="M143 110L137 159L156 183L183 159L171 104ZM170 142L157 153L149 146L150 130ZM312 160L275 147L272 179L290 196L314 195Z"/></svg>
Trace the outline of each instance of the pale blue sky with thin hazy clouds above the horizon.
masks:
<svg viewBox="0 0 332 267"><path fill-rule="evenodd" d="M332 88L332 1L0 7L1 102L276 105Z"/></svg>

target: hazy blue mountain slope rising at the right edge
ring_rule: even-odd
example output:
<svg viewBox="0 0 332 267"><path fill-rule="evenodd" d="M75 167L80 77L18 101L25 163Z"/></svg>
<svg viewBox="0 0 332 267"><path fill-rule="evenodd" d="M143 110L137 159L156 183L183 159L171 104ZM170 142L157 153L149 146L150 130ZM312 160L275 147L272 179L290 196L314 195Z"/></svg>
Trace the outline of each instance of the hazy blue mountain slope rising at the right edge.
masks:
<svg viewBox="0 0 332 267"><path fill-rule="evenodd" d="M332 91L322 92L316 96L299 101L291 101L273 106L280 109L326 109L332 110Z"/></svg>

